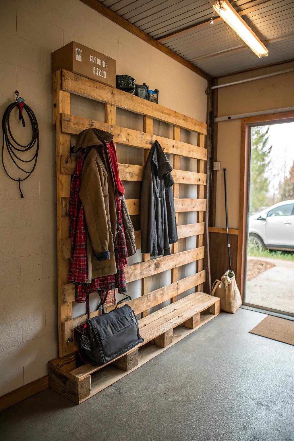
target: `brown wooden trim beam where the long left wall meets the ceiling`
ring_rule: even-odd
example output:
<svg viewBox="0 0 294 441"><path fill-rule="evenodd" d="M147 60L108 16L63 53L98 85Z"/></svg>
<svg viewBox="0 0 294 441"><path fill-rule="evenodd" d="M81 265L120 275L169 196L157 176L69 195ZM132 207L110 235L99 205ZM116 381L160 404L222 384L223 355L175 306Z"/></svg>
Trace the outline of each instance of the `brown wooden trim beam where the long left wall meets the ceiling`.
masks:
<svg viewBox="0 0 294 441"><path fill-rule="evenodd" d="M100 3L100 1L97 0L80 0L80 1L86 4L87 6L91 7L95 11L99 12L101 15L104 15L104 17L106 17L107 19L121 26L123 29L129 31L131 34L135 35L138 38L141 38L141 40L145 41L146 43L149 43L149 45L160 50L160 52L163 52L165 55L171 57L173 60L187 67L191 71L195 72L195 74L200 75L202 78L205 78L208 81L211 79L211 76L208 75L206 72L201 71L201 69L194 66L194 64L191 64L189 61L184 60L184 58L173 52L171 49L168 49L160 42L156 41L153 37L150 37L150 35L146 34L138 27L134 26L127 20L123 19L123 17L116 14L108 7L104 6L104 4Z"/></svg>

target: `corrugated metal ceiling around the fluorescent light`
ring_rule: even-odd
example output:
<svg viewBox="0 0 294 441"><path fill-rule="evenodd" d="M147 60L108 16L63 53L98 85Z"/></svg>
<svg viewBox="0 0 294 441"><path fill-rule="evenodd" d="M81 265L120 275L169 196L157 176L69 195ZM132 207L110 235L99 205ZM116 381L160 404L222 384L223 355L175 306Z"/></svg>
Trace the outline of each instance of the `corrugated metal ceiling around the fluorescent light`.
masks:
<svg viewBox="0 0 294 441"><path fill-rule="evenodd" d="M294 58L294 0L231 1L268 48L261 59L223 20L209 23L208 0L99 1L212 77Z"/></svg>

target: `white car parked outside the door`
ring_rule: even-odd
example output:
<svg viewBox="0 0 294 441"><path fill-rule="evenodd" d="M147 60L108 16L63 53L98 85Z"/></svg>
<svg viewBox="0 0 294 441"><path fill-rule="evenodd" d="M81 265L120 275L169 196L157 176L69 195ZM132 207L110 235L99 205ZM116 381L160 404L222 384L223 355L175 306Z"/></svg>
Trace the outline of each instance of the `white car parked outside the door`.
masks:
<svg viewBox="0 0 294 441"><path fill-rule="evenodd" d="M294 199L250 216L249 243L260 249L294 251Z"/></svg>

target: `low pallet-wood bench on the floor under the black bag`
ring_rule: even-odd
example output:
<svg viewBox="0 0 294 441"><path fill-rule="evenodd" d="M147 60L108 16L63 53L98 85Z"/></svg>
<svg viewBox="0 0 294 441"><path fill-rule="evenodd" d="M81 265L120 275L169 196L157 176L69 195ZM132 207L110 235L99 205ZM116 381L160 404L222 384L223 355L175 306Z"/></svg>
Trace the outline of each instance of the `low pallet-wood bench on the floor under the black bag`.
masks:
<svg viewBox="0 0 294 441"><path fill-rule="evenodd" d="M220 312L219 303L220 300L217 297L212 297L203 292L194 292L149 314L145 318L141 318L138 320L139 332L144 342L137 348L103 366L85 364L75 367L74 354L62 359L54 359L49 362L50 387L74 402L80 403L211 320ZM201 317L203 311L206 314ZM174 335L174 329L177 329L180 325L185 326L186 331L180 331L180 333L178 331ZM102 373L107 367L109 368L108 371L112 373L113 381L109 377L109 372L107 375ZM100 370L102 376L99 377L100 373L97 371ZM94 382L92 380L91 387L92 374L96 377ZM61 388L59 381L62 385ZM65 384L68 385L67 388L64 387ZM97 384L96 391L93 388L94 384Z"/></svg>

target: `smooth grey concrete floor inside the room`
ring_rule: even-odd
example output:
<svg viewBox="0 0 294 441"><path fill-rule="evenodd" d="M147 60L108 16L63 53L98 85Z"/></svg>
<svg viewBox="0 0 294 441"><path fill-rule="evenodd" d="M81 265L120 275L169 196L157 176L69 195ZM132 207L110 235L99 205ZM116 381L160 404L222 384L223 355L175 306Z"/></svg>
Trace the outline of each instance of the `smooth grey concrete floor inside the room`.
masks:
<svg viewBox="0 0 294 441"><path fill-rule="evenodd" d="M249 334L264 317L222 313L79 406L47 389L1 441L293 441L294 347Z"/></svg>

